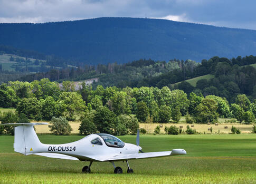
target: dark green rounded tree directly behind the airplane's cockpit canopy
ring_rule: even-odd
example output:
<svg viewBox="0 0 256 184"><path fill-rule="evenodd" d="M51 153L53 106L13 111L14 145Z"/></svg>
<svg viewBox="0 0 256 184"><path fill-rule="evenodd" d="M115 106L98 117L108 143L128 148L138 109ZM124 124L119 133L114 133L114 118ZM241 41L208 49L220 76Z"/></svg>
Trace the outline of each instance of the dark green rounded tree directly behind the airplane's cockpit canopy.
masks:
<svg viewBox="0 0 256 184"><path fill-rule="evenodd" d="M101 133L113 134L115 132L115 114L106 106L101 106L97 109L93 122L95 123L97 130Z"/></svg>

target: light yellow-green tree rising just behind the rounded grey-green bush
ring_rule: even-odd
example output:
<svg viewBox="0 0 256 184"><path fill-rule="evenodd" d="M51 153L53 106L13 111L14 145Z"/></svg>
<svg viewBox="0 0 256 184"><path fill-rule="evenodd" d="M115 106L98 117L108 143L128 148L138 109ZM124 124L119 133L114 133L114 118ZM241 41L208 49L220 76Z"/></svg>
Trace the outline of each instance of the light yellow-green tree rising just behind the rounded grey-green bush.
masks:
<svg viewBox="0 0 256 184"><path fill-rule="evenodd" d="M64 114L68 120L74 120L74 115L79 114L86 108L81 94L77 92L62 92L60 99L63 100L64 104L67 106Z"/></svg>

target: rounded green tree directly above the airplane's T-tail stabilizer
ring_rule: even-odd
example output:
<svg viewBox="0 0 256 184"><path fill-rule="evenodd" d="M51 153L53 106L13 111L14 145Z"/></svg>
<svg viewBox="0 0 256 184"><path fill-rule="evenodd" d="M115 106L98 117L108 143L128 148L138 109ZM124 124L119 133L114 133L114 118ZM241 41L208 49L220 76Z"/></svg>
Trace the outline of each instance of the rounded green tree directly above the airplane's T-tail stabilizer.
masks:
<svg viewBox="0 0 256 184"><path fill-rule="evenodd" d="M20 115L24 113L27 118L40 120L42 118L41 114L42 106L36 98L24 98L17 104L16 111Z"/></svg>

